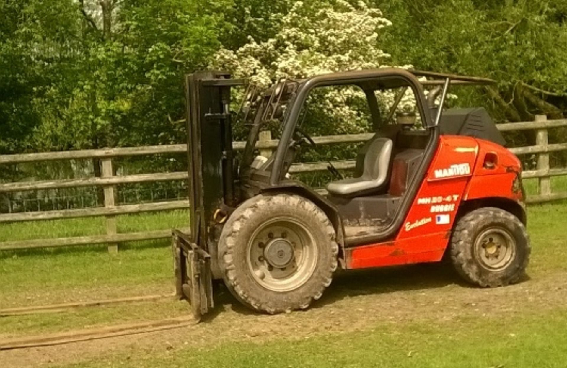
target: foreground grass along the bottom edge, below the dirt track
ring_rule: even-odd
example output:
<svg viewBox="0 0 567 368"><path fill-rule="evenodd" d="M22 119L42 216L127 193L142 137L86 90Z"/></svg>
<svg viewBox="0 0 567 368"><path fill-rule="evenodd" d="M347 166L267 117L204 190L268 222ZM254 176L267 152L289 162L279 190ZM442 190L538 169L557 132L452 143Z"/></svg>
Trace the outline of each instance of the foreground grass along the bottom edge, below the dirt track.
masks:
<svg viewBox="0 0 567 368"><path fill-rule="evenodd" d="M213 349L113 356L77 367L564 367L567 309L551 314L378 324L364 331ZM344 316L348 318L348 314Z"/></svg>

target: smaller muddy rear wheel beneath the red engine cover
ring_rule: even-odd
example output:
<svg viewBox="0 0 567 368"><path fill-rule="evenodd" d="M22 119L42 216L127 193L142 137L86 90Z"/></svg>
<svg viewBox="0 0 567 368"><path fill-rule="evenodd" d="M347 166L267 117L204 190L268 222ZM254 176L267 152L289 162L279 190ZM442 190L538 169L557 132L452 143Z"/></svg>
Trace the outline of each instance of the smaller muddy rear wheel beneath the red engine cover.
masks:
<svg viewBox="0 0 567 368"><path fill-rule="evenodd" d="M464 280L479 286L520 281L529 259L526 227L499 208L485 207L464 215L451 237L452 264Z"/></svg>

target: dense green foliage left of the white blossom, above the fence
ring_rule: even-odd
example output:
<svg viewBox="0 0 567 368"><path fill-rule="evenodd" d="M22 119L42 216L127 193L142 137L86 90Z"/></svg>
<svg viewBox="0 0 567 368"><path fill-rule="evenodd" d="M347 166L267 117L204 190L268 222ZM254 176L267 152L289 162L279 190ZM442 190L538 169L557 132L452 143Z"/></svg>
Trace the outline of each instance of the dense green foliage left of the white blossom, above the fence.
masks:
<svg viewBox="0 0 567 368"><path fill-rule="evenodd" d="M219 47L226 2L106 2L110 32L102 2L0 5L0 153L183 141L183 75Z"/></svg>

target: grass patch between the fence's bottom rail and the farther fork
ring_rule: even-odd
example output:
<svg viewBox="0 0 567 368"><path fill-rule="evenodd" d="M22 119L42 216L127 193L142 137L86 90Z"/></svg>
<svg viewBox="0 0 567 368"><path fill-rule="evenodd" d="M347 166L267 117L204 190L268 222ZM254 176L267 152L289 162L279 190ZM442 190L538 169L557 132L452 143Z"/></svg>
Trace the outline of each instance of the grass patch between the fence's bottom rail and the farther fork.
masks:
<svg viewBox="0 0 567 368"><path fill-rule="evenodd" d="M14 252L0 261L0 307L84 299L88 291L82 290L88 289L98 290L91 298L111 297L116 294L111 288L116 287L118 293L134 287L130 295L163 289L156 285L167 281L171 284L171 251L165 247L167 244L164 240L149 243L149 247L122 248L118 255L94 247L28 252L24 256ZM143 293L143 289L147 292Z"/></svg>

